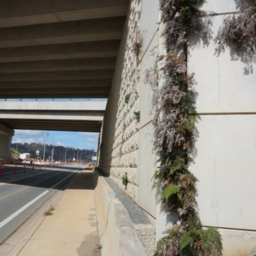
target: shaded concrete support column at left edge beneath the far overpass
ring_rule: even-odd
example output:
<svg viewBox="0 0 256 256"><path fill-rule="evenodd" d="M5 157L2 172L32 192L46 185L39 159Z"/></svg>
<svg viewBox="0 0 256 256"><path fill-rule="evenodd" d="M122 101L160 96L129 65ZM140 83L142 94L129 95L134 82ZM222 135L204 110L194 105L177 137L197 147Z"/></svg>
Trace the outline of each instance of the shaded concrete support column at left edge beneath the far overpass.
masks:
<svg viewBox="0 0 256 256"><path fill-rule="evenodd" d="M13 129L0 123L0 159L9 159Z"/></svg>

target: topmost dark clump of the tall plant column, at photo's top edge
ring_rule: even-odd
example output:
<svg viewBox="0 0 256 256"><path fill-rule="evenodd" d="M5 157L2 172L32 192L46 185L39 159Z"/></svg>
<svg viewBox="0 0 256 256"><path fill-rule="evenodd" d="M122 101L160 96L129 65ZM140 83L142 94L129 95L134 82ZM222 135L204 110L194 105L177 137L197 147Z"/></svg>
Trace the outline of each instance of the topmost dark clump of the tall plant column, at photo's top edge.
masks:
<svg viewBox="0 0 256 256"><path fill-rule="evenodd" d="M161 0L161 21L164 22L163 36L166 39L166 50L179 54L188 36L198 33L206 42L211 37L212 18L205 17L199 8L205 0Z"/></svg>

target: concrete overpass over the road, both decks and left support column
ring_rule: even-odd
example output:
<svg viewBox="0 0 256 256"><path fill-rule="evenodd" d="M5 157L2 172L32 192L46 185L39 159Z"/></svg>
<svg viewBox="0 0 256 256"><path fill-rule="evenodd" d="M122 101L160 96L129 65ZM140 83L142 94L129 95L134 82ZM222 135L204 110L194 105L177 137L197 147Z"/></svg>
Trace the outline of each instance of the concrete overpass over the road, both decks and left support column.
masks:
<svg viewBox="0 0 256 256"><path fill-rule="evenodd" d="M129 0L3 0L0 98L107 99ZM13 129L99 132L106 102L0 102L0 158Z"/></svg>

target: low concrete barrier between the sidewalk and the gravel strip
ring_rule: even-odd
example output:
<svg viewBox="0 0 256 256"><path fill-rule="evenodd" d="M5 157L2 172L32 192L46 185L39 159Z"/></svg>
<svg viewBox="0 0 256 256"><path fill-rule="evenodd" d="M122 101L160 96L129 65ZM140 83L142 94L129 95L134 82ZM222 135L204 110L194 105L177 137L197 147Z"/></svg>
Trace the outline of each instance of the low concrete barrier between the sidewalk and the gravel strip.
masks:
<svg viewBox="0 0 256 256"><path fill-rule="evenodd" d="M97 167L93 179L102 256L147 256L128 212Z"/></svg>

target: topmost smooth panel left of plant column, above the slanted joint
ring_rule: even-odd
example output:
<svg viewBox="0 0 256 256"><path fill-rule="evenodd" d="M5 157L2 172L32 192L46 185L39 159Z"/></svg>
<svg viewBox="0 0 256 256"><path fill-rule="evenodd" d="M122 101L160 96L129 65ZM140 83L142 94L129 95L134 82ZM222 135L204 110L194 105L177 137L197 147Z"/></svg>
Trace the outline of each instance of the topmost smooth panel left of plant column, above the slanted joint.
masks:
<svg viewBox="0 0 256 256"><path fill-rule="evenodd" d="M145 53L148 45L153 39L158 29L159 22L159 1L142 0L140 30L143 35L143 45L141 52Z"/></svg>

